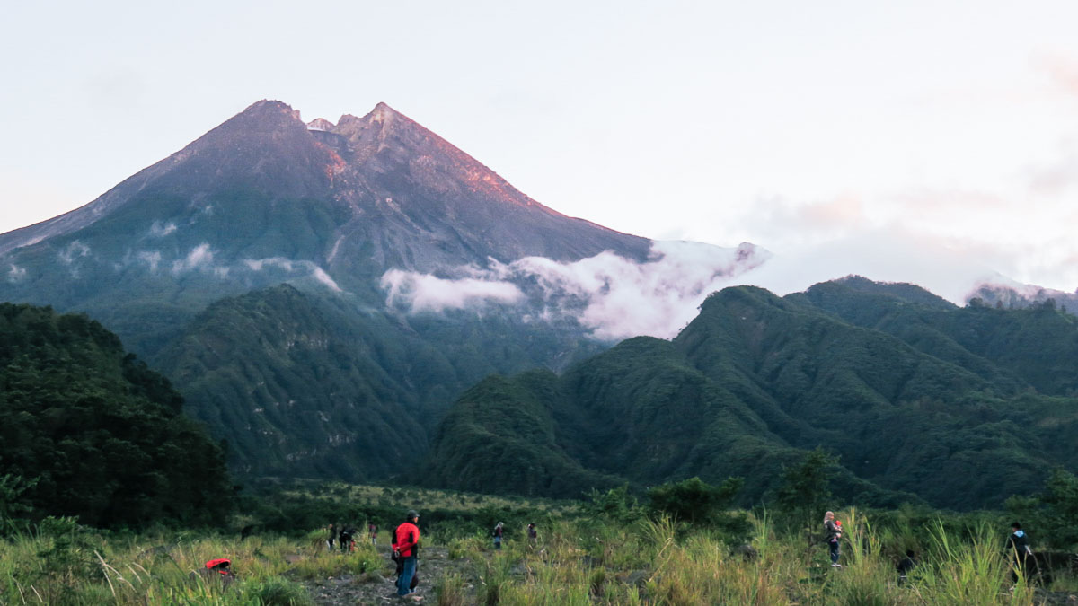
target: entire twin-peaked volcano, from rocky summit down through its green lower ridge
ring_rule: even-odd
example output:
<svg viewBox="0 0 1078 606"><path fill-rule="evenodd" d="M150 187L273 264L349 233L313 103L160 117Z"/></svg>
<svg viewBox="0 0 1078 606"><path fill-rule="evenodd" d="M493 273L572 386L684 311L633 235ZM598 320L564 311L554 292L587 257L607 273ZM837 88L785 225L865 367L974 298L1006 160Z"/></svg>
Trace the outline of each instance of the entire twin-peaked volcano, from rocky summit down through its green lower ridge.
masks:
<svg viewBox="0 0 1078 606"><path fill-rule="evenodd" d="M120 334L232 444L241 476L356 481L418 460L483 376L609 346L528 297L401 312L388 272L639 263L652 244L539 204L385 104L306 123L262 100L89 204L0 235L0 300ZM730 257L751 264L754 250Z"/></svg>

